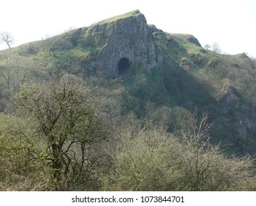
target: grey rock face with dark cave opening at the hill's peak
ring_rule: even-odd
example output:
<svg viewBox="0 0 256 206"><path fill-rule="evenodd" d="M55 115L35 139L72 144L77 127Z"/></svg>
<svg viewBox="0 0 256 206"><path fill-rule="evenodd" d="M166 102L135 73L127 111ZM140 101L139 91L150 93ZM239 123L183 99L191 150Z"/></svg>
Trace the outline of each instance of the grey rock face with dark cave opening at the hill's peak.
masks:
<svg viewBox="0 0 256 206"><path fill-rule="evenodd" d="M86 31L86 39L91 38L100 46L97 63L100 63L105 77L115 78L125 74L133 64L147 70L162 68L162 57L156 54L153 31L145 16L136 10L91 26Z"/></svg>

